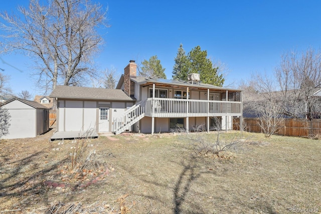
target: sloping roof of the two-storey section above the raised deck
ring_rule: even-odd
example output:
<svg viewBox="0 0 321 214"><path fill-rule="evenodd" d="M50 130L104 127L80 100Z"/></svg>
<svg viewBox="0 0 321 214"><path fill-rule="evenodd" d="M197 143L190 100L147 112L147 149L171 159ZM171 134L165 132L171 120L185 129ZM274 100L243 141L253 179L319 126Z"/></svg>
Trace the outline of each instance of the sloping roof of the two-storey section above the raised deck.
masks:
<svg viewBox="0 0 321 214"><path fill-rule="evenodd" d="M164 84L168 86L184 86L184 87L196 87L196 88L204 88L204 89L217 89L217 90L229 90L229 91L242 91L236 89L228 89L224 87L218 87L210 84L204 83L190 83L186 81L178 81L178 80L167 80L167 79L160 79L160 78L145 78L145 77L131 77L131 81L139 84L139 85L148 85L152 83Z"/></svg>

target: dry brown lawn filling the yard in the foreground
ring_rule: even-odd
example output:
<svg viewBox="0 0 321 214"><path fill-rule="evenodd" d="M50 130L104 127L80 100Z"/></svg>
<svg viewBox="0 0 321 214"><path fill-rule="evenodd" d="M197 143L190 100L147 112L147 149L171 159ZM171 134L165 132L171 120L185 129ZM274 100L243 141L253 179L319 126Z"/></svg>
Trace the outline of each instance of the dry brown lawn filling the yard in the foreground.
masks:
<svg viewBox="0 0 321 214"><path fill-rule="evenodd" d="M51 134L0 141L0 213L321 212L319 140L222 132L241 144L217 158L195 152L190 140L214 141L217 132L122 134L88 141L92 155L80 169L71 167L76 143L49 142Z"/></svg>

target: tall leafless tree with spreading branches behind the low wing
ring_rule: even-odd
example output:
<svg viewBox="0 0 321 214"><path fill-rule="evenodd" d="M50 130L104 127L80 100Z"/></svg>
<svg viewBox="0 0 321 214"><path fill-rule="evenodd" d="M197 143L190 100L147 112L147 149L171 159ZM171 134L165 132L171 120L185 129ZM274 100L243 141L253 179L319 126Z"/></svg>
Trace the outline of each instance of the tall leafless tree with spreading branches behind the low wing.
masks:
<svg viewBox="0 0 321 214"><path fill-rule="evenodd" d="M103 39L96 28L106 25L106 11L89 0L30 0L18 15L1 13L2 52L20 51L35 59L38 83L46 90L57 84L81 85Z"/></svg>

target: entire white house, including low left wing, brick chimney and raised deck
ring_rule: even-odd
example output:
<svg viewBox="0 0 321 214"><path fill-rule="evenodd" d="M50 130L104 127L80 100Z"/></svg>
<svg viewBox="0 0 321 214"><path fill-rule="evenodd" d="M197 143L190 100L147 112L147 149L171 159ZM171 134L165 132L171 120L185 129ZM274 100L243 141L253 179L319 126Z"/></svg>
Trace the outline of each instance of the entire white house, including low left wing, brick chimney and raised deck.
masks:
<svg viewBox="0 0 321 214"><path fill-rule="evenodd" d="M116 89L56 86L50 97L58 103L57 132L189 132L198 125L210 131L217 121L228 130L233 116L242 117L241 90L144 78L136 71L129 61Z"/></svg>

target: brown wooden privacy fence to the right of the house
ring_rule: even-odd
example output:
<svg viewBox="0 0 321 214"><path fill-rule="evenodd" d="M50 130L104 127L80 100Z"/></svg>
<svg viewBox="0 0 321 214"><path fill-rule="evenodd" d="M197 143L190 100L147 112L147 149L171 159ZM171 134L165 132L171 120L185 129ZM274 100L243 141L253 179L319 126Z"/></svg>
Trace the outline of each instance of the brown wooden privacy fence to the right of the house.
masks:
<svg viewBox="0 0 321 214"><path fill-rule="evenodd" d="M259 126L258 118L243 118L243 128L245 131L263 133ZM240 129L240 118L233 119L233 130ZM315 136L321 134L321 119L284 119L280 124L279 135L284 136Z"/></svg>

